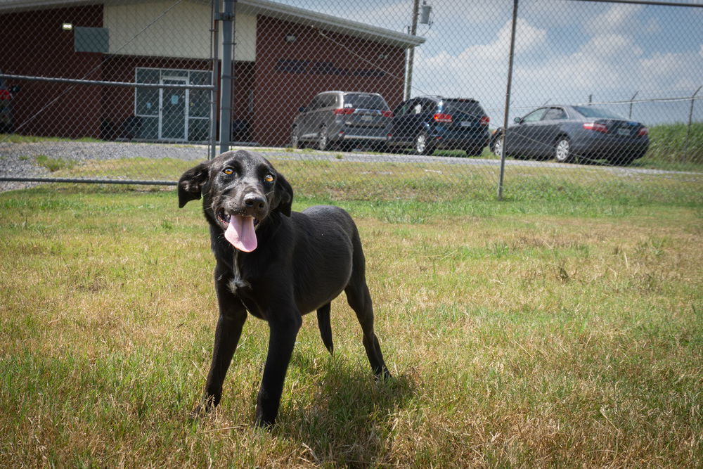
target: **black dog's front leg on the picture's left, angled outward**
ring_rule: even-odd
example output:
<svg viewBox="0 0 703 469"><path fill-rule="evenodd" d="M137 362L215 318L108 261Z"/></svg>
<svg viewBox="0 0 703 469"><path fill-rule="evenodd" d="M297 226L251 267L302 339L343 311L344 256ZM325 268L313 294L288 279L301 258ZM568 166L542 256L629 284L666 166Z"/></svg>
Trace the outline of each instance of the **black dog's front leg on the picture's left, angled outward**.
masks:
<svg viewBox="0 0 703 469"><path fill-rule="evenodd" d="M205 383L202 401L194 413L209 411L222 398L222 383L237 348L242 328L247 320L247 310L228 287L229 278L215 271L215 291L219 304L219 320L215 330L212 364Z"/></svg>

